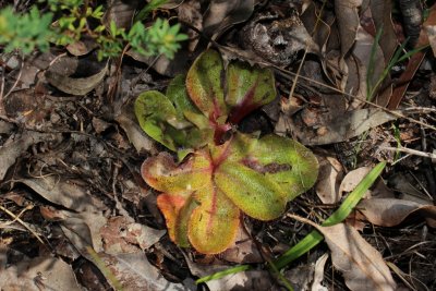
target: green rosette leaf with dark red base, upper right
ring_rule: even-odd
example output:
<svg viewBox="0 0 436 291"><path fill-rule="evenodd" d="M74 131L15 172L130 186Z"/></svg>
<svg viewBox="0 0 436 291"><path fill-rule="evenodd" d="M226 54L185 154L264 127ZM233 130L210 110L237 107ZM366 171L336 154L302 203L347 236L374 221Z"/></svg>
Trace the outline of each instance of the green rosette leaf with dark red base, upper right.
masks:
<svg viewBox="0 0 436 291"><path fill-rule="evenodd" d="M268 69L232 62L227 69L226 102L232 108L229 121L239 123L246 114L276 98L272 72Z"/></svg>

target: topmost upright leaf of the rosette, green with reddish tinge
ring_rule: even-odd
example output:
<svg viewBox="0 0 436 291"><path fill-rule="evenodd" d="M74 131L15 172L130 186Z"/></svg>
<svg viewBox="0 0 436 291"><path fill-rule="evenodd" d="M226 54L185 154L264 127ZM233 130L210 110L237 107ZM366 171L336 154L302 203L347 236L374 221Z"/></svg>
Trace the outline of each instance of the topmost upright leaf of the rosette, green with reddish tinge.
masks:
<svg viewBox="0 0 436 291"><path fill-rule="evenodd" d="M186 89L192 101L211 121L227 117L223 93L223 65L215 50L203 52L186 76Z"/></svg>

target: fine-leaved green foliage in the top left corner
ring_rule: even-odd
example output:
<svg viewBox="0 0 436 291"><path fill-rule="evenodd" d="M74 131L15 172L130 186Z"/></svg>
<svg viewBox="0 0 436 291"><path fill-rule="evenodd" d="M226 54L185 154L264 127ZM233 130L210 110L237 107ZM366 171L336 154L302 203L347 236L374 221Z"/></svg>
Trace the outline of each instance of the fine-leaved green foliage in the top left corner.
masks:
<svg viewBox="0 0 436 291"><path fill-rule="evenodd" d="M39 2L46 3L50 12L40 14L36 7L21 14L15 13L12 7L0 10L0 45L4 46L5 52L15 49L24 54L35 49L47 51L50 43L65 46L80 41L86 36L98 47L99 60L120 56L126 45L130 45L133 51L146 57L166 56L172 59L180 49L180 43L187 39L187 36L180 32L179 24L170 25L167 20L157 19L149 27L136 21L125 32L124 28L117 27L114 22L110 22L106 27L102 5L88 4L85 9L83 0L41 0ZM141 20L164 2L154 0L146 4L143 9L146 13L142 14ZM53 15L57 16L56 21Z"/></svg>

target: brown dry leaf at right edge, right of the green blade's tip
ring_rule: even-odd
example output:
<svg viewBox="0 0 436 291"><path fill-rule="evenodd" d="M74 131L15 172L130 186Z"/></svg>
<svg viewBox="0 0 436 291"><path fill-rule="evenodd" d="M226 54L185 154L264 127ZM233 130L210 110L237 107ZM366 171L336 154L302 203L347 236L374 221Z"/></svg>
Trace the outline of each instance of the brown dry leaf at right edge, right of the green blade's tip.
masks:
<svg viewBox="0 0 436 291"><path fill-rule="evenodd" d="M358 209L376 226L397 226L413 213L427 218L432 227L436 226L436 206L434 205L395 198L371 198L361 201Z"/></svg>

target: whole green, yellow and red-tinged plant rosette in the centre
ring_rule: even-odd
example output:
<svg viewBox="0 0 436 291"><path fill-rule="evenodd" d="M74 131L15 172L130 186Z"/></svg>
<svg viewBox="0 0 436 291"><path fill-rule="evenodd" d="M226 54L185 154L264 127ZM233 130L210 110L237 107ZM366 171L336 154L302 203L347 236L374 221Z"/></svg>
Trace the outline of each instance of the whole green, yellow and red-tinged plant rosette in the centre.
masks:
<svg viewBox="0 0 436 291"><path fill-rule="evenodd" d="M138 96L142 129L181 160L160 153L141 168L146 183L161 192L157 205L174 243L204 254L223 252L234 242L241 214L276 219L313 186L318 162L310 149L287 137L232 130L275 97L270 70L242 62L225 70L214 50L202 53L186 77L177 76L167 95Z"/></svg>

